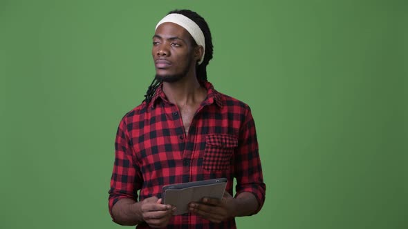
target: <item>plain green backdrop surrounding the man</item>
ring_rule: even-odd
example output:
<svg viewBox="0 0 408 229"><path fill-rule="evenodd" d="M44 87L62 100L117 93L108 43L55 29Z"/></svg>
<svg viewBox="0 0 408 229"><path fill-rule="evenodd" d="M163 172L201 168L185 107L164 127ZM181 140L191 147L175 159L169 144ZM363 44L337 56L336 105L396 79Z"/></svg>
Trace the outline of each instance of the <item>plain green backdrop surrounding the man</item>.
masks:
<svg viewBox="0 0 408 229"><path fill-rule="evenodd" d="M408 228L407 1L0 0L0 228L121 228L113 141L169 10L252 108L267 184L239 228Z"/></svg>

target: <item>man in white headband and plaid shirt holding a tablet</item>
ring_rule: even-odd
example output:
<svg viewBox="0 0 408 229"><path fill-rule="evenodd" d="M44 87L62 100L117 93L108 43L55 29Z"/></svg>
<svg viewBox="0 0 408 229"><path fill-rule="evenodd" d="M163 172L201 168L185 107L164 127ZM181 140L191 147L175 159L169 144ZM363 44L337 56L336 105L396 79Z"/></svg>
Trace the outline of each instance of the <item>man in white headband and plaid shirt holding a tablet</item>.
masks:
<svg viewBox="0 0 408 229"><path fill-rule="evenodd" d="M236 228L234 217L261 209L266 186L254 120L245 103L207 81L212 53L210 29L196 12L174 10L156 26L156 77L142 104L120 121L115 140L109 212L116 223ZM172 215L174 206L160 198L165 185L221 177L228 179L223 199L189 203L187 214Z"/></svg>

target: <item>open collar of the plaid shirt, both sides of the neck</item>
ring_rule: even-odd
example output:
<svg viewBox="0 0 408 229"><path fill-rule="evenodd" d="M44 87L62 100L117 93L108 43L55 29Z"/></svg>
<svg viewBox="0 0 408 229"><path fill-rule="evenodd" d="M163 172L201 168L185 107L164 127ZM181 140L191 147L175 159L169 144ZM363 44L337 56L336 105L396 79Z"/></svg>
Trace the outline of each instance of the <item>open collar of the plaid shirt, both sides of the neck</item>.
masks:
<svg viewBox="0 0 408 229"><path fill-rule="evenodd" d="M203 105L210 105L212 103L216 103L219 108L223 107L223 97L222 94L214 89L214 86L212 86L212 83L209 81L201 81L201 86L203 86L207 90L207 99L205 99ZM151 108L154 108L156 106L156 103L158 101L167 101L165 92L163 92L163 83L160 83L158 88L156 89L156 92L154 93L154 96L151 97L151 102L149 106Z"/></svg>

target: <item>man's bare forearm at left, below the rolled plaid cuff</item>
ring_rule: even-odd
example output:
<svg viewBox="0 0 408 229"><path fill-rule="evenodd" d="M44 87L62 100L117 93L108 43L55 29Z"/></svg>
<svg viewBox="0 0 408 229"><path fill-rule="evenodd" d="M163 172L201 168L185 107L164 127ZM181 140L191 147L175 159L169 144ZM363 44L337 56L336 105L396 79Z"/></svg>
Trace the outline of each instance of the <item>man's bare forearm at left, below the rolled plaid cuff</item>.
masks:
<svg viewBox="0 0 408 229"><path fill-rule="evenodd" d="M124 226L135 226L143 221L140 202L133 199L120 199L112 208L112 215L115 223Z"/></svg>

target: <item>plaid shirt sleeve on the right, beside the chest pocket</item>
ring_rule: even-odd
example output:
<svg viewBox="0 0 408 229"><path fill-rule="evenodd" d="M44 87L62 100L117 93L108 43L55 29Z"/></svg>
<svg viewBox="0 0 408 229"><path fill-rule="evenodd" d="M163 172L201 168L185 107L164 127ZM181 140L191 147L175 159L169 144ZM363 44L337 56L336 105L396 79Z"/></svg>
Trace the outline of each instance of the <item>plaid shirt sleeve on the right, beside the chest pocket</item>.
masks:
<svg viewBox="0 0 408 229"><path fill-rule="evenodd" d="M259 203L261 210L265 202L266 185L263 183L261 159L258 151L257 132L255 123L248 108L245 113L245 121L241 126L238 148L234 161L234 177L237 179L235 190L239 195L241 192L251 192Z"/></svg>

